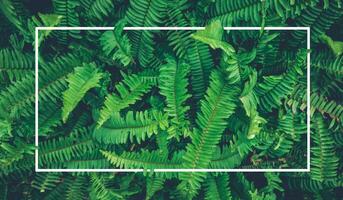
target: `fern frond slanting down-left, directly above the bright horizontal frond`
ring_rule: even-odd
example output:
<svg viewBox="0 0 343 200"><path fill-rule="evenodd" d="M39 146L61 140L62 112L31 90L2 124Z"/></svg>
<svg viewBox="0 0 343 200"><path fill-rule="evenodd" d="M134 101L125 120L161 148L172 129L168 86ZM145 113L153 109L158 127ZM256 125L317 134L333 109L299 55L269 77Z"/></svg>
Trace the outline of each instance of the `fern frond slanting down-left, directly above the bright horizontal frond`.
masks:
<svg viewBox="0 0 343 200"><path fill-rule="evenodd" d="M124 80L115 87L118 94L111 94L106 97L103 108L100 110L100 117L97 127L101 127L114 113L134 104L141 96L149 91L151 84L145 82L138 75L125 75Z"/></svg>

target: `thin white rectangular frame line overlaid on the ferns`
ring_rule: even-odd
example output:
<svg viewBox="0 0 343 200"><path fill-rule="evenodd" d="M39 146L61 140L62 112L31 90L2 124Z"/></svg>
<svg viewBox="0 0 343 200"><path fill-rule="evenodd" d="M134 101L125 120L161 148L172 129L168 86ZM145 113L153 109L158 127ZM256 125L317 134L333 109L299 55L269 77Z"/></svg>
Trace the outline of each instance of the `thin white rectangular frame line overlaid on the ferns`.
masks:
<svg viewBox="0 0 343 200"><path fill-rule="evenodd" d="M38 168L38 33L40 30L113 30L114 27L35 28L35 170L36 172L150 172L149 169L39 169ZM124 27L124 30L204 30L205 27ZM261 27L224 27L224 30L261 30ZM303 30L310 50L310 27L264 27L264 30ZM154 172L309 172L310 171L310 53L307 53L307 168L306 169L154 169Z"/></svg>

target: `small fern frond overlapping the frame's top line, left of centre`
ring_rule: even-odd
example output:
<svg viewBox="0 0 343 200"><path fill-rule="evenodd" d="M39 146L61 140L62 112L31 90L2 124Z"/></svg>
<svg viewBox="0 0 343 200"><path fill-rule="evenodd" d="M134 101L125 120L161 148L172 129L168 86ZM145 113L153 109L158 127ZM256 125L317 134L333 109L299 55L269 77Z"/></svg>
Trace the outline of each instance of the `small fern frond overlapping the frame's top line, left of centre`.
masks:
<svg viewBox="0 0 343 200"><path fill-rule="evenodd" d="M129 38L122 34L125 21L116 24L114 31L106 31L100 37L100 45L106 56L110 56L114 61L120 61L124 66L133 62L131 56L131 44Z"/></svg>

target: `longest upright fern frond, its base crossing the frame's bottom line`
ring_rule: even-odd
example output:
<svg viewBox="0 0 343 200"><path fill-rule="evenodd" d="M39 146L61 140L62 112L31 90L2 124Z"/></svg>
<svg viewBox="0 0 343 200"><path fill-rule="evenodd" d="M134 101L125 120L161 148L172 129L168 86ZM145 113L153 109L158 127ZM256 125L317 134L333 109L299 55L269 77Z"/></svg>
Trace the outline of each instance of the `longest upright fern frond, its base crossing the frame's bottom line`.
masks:
<svg viewBox="0 0 343 200"><path fill-rule="evenodd" d="M185 168L207 168L210 164L214 148L219 142L222 132L226 127L227 119L236 108L236 100L239 95L239 88L229 84L223 74L214 71L211 74L210 86L206 92L205 100L201 102L201 112L197 117L196 129L191 134L192 143L187 145L187 152L184 155ZM204 179L203 173L187 173L180 176L182 187L192 196L200 188L200 182ZM188 194L186 195L188 196Z"/></svg>

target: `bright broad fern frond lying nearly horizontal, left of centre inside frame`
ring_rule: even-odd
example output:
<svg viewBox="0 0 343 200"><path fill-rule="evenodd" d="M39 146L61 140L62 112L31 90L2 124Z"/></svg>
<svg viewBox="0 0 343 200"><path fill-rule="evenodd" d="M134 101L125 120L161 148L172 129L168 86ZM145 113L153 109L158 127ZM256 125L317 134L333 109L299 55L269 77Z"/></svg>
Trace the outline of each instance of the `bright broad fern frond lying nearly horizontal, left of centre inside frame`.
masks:
<svg viewBox="0 0 343 200"><path fill-rule="evenodd" d="M160 129L168 127L167 116L158 111L128 112L125 117L119 113L112 114L112 117L100 128L95 129L93 136L109 144L124 144L128 140L141 143Z"/></svg>

